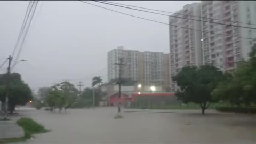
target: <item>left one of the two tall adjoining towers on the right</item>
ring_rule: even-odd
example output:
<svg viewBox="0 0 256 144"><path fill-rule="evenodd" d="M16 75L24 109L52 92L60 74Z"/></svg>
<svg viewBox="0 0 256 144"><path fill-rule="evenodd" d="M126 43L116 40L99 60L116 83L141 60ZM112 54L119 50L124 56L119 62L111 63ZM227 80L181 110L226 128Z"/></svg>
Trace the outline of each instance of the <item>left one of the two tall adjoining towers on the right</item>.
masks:
<svg viewBox="0 0 256 144"><path fill-rule="evenodd" d="M172 91L176 90L176 86L171 77L175 76L183 66L202 65L201 31L191 30L200 30L201 22L189 20L200 20L200 15L200 3L193 3L185 5L182 10L169 17L170 81Z"/></svg>

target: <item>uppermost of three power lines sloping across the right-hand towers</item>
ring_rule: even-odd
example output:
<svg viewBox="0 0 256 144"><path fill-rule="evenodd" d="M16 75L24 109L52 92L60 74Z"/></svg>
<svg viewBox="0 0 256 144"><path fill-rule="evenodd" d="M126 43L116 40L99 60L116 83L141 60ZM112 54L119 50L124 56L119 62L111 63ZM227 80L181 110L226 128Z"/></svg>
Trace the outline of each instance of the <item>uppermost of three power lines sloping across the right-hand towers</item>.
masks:
<svg viewBox="0 0 256 144"><path fill-rule="evenodd" d="M103 1L103 2L113 3L113 4L119 4L119 5L125 5L125 6L131 6L131 7L137 7L137 8L140 8L140 9L151 10L151 11L172 13L172 14L178 14L178 15L185 15L185 16L195 17L195 18L205 18L205 19L220 20L220 21L233 22L233 23L243 23L243 24L248 25L248 23L246 23L246 22L229 21L229 20L222 20L222 19L215 19L215 18L207 18L207 17L199 17L199 16L196 16L196 15L183 14L183 13L176 13L176 12L169 12L169 11L162 11L162 10L156 10L156 9L149 9L149 8L146 8L146 7L140 7L140 6L134 6L134 5L127 5L127 4L115 3L115 2L109 2L109 1ZM252 23L251 23L250 25L255 25L255 26L256 26L256 24L252 24Z"/></svg>

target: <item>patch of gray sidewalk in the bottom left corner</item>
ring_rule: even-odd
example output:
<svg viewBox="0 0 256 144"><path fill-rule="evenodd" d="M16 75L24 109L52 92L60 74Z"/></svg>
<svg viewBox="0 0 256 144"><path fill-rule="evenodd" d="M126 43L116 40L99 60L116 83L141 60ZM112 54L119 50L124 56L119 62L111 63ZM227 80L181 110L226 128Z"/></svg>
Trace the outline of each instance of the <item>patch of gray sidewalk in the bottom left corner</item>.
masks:
<svg viewBox="0 0 256 144"><path fill-rule="evenodd" d="M0 115L2 118L2 116ZM23 137L23 130L15 121L0 121L0 139Z"/></svg>

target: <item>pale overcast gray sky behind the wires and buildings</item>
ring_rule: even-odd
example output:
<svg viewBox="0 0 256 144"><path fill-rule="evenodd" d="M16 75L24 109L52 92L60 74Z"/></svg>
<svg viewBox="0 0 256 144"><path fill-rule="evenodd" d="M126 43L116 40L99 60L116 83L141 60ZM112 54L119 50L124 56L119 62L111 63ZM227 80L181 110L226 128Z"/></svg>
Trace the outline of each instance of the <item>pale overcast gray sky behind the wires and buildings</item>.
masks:
<svg viewBox="0 0 256 144"><path fill-rule="evenodd" d="M113 2L175 12L199 1ZM90 3L168 22L162 15ZM25 1L0 1L0 59L12 53L27 5ZM63 79L90 86L93 76L102 76L107 81L107 52L121 45L124 49L169 53L168 26L79 1L41 1L20 55L20 59L28 61L18 63L13 72L20 73L32 89Z"/></svg>

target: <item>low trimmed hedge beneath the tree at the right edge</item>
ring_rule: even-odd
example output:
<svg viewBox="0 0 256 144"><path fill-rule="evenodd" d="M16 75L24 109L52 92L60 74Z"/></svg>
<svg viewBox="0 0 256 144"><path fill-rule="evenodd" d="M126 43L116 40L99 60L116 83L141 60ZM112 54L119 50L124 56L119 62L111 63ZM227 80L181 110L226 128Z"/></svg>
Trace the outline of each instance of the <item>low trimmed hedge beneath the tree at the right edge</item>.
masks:
<svg viewBox="0 0 256 144"><path fill-rule="evenodd" d="M253 113L256 114L256 107L216 107L220 112Z"/></svg>

